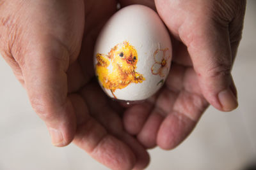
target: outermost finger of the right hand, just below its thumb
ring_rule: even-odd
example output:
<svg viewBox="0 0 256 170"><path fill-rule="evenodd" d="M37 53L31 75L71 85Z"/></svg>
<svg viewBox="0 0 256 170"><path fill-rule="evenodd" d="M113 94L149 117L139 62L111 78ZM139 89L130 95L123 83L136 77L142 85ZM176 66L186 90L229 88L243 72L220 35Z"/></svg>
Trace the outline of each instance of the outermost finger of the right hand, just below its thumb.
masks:
<svg viewBox="0 0 256 170"><path fill-rule="evenodd" d="M203 97L186 91L180 92L173 110L159 127L157 145L165 150L179 145L193 131L206 108L207 102Z"/></svg>

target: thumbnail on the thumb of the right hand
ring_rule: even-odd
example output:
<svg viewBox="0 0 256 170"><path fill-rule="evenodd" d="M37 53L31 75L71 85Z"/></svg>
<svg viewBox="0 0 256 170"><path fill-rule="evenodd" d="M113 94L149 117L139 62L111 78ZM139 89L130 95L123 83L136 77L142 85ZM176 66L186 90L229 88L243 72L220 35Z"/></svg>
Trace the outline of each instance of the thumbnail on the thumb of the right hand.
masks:
<svg viewBox="0 0 256 170"><path fill-rule="evenodd" d="M224 111L232 111L237 108L237 98L232 90L225 89L219 93L218 97Z"/></svg>

